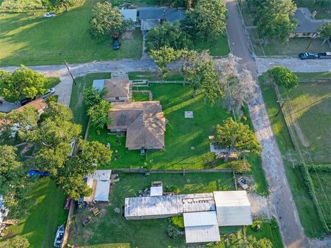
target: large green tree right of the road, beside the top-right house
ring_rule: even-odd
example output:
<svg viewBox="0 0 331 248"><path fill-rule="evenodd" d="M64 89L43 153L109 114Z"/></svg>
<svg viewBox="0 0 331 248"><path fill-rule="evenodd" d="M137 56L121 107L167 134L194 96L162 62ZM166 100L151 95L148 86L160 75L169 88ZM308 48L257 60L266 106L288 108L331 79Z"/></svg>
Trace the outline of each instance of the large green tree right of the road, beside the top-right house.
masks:
<svg viewBox="0 0 331 248"><path fill-rule="evenodd" d="M292 0L251 1L254 23L257 24L259 37L285 43L294 32L297 21L290 17L297 10Z"/></svg>

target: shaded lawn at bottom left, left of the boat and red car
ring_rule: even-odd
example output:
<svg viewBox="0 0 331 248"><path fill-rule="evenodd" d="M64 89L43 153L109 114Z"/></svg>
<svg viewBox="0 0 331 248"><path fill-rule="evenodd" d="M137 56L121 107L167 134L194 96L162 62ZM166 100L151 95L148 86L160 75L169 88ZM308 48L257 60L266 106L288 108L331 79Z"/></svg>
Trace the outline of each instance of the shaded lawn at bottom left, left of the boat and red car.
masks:
<svg viewBox="0 0 331 248"><path fill-rule="evenodd" d="M65 196L50 178L43 178L37 182L29 197L37 200L36 207L28 217L19 220L18 225L10 226L6 234L28 238L32 248L52 247L57 227L67 218L68 210L63 209Z"/></svg>

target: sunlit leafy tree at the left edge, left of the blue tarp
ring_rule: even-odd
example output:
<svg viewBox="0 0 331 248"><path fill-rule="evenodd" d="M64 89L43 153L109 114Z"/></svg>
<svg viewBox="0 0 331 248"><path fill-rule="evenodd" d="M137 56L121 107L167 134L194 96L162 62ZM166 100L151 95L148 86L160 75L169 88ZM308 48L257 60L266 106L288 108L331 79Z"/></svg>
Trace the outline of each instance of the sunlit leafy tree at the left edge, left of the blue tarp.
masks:
<svg viewBox="0 0 331 248"><path fill-rule="evenodd" d="M11 218L26 216L31 204L27 197L30 190L27 171L18 161L16 151L16 147L0 145L0 192Z"/></svg>

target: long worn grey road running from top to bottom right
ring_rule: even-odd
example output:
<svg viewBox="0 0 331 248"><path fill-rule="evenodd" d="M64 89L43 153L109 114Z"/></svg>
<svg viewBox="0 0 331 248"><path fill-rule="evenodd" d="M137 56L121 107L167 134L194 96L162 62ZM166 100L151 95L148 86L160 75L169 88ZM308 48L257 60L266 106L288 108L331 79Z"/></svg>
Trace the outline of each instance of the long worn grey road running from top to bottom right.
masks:
<svg viewBox="0 0 331 248"><path fill-rule="evenodd" d="M257 63L249 52L248 39L242 25L235 0L224 0L229 12L228 35L232 53L241 57L243 68L250 70L257 80ZM300 61L298 61L300 62ZM283 242L288 248L308 247L308 240L303 233L297 207L294 204L290 186L285 175L281 153L272 133L268 114L265 110L261 90L257 87L257 97L249 105L254 130L261 141L263 169L268 180L272 211L279 221Z"/></svg>

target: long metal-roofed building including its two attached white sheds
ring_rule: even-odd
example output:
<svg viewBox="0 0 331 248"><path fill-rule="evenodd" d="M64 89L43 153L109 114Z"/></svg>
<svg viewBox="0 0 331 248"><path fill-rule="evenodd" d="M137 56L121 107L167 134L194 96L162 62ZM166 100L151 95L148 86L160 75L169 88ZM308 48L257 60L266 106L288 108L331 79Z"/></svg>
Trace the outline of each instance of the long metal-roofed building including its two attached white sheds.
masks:
<svg viewBox="0 0 331 248"><path fill-rule="evenodd" d="M245 191L126 198L127 220L183 216L186 242L217 242L219 227L252 225Z"/></svg>

